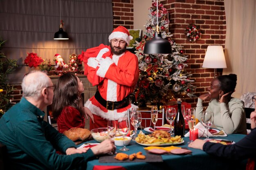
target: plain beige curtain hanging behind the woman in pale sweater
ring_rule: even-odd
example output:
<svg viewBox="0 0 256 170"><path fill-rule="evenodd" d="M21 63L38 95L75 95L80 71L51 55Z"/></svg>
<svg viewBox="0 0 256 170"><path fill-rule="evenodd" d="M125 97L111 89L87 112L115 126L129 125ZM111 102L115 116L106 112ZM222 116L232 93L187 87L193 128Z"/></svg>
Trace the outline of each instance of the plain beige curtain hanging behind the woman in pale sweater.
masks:
<svg viewBox="0 0 256 170"><path fill-rule="evenodd" d="M240 98L243 93L256 91L256 1L224 0L224 4L227 68L223 69L223 74L238 76L232 96Z"/></svg>

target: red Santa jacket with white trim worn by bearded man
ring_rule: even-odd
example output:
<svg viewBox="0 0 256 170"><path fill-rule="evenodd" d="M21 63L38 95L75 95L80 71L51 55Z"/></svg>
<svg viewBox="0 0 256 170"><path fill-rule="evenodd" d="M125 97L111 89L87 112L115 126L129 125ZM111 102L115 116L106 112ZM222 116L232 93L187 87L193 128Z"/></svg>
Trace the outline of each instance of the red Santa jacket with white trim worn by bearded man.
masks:
<svg viewBox="0 0 256 170"><path fill-rule="evenodd" d="M105 100L117 102L124 99L134 91L135 84L139 78L138 58L135 54L126 51L121 55L107 56L101 61L101 66L95 64L93 58L88 59L88 80L94 81L94 76L100 77L98 90ZM117 110L107 110L93 96L86 103L94 115L104 119L110 117L116 120L125 117L129 104ZM107 114L106 114L107 113Z"/></svg>

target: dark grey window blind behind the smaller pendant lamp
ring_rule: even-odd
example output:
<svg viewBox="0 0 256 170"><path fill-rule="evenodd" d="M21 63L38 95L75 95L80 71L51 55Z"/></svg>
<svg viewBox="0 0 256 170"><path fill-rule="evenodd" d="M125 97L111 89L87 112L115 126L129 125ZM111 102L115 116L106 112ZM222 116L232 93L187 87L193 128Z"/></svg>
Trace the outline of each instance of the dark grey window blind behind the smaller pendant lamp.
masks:
<svg viewBox="0 0 256 170"><path fill-rule="evenodd" d="M0 37L7 40L1 51L19 65L12 84L30 71L24 65L27 53L51 59L52 64L58 53L68 62L72 53L109 44L113 30L112 0L1 0L0 7ZM61 20L69 40L53 39Z"/></svg>

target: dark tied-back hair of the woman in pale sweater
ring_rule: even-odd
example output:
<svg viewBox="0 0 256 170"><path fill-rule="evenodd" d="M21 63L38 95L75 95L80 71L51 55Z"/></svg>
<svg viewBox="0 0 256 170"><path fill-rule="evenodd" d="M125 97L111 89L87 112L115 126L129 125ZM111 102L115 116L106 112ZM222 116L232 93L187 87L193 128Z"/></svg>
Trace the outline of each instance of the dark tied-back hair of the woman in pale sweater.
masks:
<svg viewBox="0 0 256 170"><path fill-rule="evenodd" d="M224 91L224 93L229 93L235 90L237 80L237 76L235 74L220 75L217 79L220 82L220 90Z"/></svg>

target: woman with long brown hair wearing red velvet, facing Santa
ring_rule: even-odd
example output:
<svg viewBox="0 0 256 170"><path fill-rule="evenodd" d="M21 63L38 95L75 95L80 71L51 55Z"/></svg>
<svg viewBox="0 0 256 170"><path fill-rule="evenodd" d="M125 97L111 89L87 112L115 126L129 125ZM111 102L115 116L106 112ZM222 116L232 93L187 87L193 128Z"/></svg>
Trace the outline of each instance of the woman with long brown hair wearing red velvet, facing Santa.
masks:
<svg viewBox="0 0 256 170"><path fill-rule="evenodd" d="M85 127L82 81L71 72L59 77L53 99L53 117L57 120L58 131Z"/></svg>

